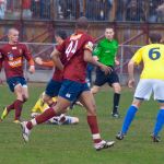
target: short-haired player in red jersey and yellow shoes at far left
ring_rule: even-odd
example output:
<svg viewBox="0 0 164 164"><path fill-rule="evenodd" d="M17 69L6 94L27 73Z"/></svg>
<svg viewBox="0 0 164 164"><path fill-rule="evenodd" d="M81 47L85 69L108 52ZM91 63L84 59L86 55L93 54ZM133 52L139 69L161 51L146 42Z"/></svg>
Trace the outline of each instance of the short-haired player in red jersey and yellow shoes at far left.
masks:
<svg viewBox="0 0 164 164"><path fill-rule="evenodd" d="M30 65L28 71L31 73L35 72L35 66L27 47L19 43L19 31L16 28L9 30L8 38L9 43L0 48L0 70L3 62L7 83L11 92L15 94L16 99L4 108L1 120L3 120L12 109L15 109L14 122L20 122L22 106L28 98L27 84L23 75L24 58Z"/></svg>

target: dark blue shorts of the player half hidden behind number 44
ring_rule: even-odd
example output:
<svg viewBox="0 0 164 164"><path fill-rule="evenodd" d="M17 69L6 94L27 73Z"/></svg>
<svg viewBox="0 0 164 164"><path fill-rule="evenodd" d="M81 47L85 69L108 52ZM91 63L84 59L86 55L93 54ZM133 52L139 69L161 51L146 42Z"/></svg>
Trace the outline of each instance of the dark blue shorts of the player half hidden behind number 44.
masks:
<svg viewBox="0 0 164 164"><path fill-rule="evenodd" d="M61 87L61 84L62 82L55 81L51 79L46 86L45 93L50 97L57 96Z"/></svg>

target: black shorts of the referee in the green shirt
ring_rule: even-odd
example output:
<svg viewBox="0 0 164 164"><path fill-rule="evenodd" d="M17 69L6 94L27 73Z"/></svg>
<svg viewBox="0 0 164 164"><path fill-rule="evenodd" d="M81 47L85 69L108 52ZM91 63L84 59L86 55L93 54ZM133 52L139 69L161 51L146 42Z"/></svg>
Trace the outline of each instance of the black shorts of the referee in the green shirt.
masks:
<svg viewBox="0 0 164 164"><path fill-rule="evenodd" d="M96 68L96 79L94 85L102 86L105 83L108 83L110 86L113 83L119 83L119 78L114 68L108 74L105 74L99 68Z"/></svg>

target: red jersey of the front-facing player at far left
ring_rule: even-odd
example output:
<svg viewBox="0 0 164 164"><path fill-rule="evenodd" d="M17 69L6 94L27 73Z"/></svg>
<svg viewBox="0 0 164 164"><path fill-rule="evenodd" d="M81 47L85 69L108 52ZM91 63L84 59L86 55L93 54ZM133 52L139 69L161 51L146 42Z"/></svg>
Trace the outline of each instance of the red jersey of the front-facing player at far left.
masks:
<svg viewBox="0 0 164 164"><path fill-rule="evenodd" d="M0 69L4 67L5 77L24 77L23 75L23 61L24 58L31 66L34 66L34 60L31 52L24 44L17 43L16 45L7 44L0 48Z"/></svg>

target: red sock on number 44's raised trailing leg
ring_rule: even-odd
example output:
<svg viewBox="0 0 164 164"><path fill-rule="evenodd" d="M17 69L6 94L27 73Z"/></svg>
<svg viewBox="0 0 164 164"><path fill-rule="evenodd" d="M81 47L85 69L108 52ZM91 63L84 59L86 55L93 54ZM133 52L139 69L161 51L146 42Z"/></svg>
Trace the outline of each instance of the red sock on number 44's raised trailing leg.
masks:
<svg viewBox="0 0 164 164"><path fill-rule="evenodd" d="M56 112L52 108L48 108L46 109L43 114L36 116L36 118L34 118L36 120L36 124L43 124L45 121L47 121L48 119L50 119L51 117L56 116ZM33 128L33 124L32 121L28 121L26 127L31 130Z"/></svg>

